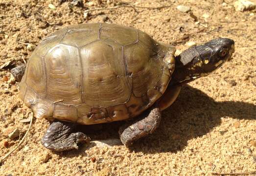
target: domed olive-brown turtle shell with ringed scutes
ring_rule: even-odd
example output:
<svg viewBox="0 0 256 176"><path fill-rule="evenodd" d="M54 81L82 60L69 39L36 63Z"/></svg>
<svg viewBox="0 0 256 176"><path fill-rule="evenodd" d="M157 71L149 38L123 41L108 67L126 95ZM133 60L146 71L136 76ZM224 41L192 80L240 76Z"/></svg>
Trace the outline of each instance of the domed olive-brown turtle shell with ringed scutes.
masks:
<svg viewBox="0 0 256 176"><path fill-rule="evenodd" d="M36 47L19 96L37 118L81 124L132 118L162 96L174 52L132 27L66 27Z"/></svg>

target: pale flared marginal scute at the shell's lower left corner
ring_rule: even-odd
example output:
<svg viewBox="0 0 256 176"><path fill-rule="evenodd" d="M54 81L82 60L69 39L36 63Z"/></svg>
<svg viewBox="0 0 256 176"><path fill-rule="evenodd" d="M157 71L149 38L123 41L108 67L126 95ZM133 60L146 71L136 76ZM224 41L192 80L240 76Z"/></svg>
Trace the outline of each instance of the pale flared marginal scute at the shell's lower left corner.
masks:
<svg viewBox="0 0 256 176"><path fill-rule="evenodd" d="M38 119L52 117L54 105L47 99L39 100L35 105L32 106L32 110L35 113L35 117Z"/></svg>

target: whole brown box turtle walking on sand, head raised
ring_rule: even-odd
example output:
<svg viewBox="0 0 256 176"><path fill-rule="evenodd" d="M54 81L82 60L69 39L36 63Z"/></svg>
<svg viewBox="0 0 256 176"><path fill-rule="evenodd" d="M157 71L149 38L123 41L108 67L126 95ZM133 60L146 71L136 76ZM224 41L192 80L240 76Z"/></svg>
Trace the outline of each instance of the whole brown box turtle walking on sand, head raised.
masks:
<svg viewBox="0 0 256 176"><path fill-rule="evenodd" d="M57 152L78 149L90 138L75 132L77 124L126 121L118 133L129 147L157 129L161 111L184 84L232 59L234 41L218 38L177 56L175 51L118 24L77 24L48 35L31 54L19 92L36 118L52 121L42 145Z"/></svg>

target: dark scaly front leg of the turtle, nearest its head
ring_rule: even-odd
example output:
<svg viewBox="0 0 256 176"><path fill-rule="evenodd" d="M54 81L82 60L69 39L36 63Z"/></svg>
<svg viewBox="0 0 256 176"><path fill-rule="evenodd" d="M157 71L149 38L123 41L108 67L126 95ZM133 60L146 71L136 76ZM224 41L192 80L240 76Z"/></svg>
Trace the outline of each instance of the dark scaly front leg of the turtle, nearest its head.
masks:
<svg viewBox="0 0 256 176"><path fill-rule="evenodd" d="M119 129L119 135L122 143L125 146L130 146L133 141L153 133L159 126L161 121L161 111L159 107L151 108L149 114L142 120L135 122L134 124L127 127L122 126Z"/></svg>

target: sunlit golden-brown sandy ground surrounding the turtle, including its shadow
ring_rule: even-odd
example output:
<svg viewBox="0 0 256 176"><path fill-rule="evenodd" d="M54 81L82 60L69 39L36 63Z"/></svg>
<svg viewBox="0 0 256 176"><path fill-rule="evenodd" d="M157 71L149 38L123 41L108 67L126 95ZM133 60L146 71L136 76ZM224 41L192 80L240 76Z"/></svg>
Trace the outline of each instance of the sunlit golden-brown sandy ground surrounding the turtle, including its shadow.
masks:
<svg viewBox="0 0 256 176"><path fill-rule="evenodd" d="M185 86L177 101L163 111L159 129L130 149L83 145L53 153L40 144L49 122L35 120L20 149L0 166L1 176L211 176L256 170L256 10L237 12L234 0L129 0L134 6L169 7L93 11L84 18L88 8L113 4L112 0L82 1L84 7L70 7L69 0L59 6L58 0L0 0L0 65L12 61L0 70L1 156L19 143L29 126L20 122L31 110L18 98L18 83L7 81L10 68L31 54L23 43L37 45L47 34L70 24L110 22L139 28L179 50L186 49L187 42L228 37L235 41L234 59ZM116 0L116 5L125 5L120 2ZM49 3L56 9L50 9ZM191 7L200 23L178 11L180 4ZM81 128L93 140L113 139L118 138L119 125ZM4 135L11 127L20 129L20 138Z"/></svg>

